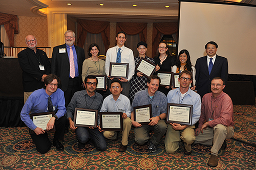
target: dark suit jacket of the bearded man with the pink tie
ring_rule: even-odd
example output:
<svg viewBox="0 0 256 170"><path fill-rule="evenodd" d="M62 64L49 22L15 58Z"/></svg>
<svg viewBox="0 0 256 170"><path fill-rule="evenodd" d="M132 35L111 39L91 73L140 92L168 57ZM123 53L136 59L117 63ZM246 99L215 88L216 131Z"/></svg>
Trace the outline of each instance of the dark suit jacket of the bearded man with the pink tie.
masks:
<svg viewBox="0 0 256 170"><path fill-rule="evenodd" d="M67 48L66 53L59 53L59 48L66 48L66 44L58 45L53 48L51 74L57 75L60 78L60 88L65 92L67 91L69 84L69 56ZM78 62L79 84L82 84L82 63L86 57L83 48L75 45L75 49Z"/></svg>

